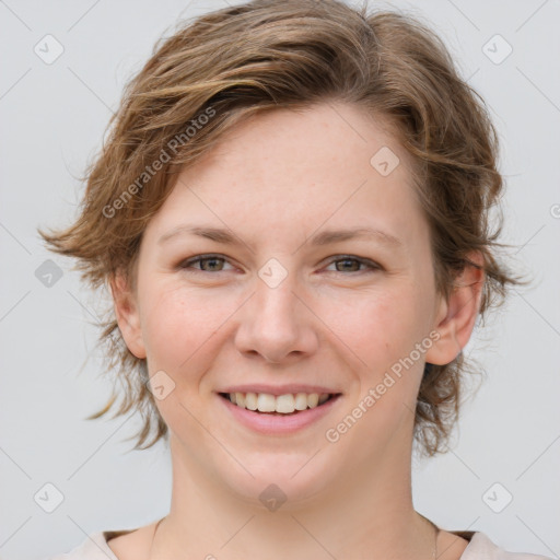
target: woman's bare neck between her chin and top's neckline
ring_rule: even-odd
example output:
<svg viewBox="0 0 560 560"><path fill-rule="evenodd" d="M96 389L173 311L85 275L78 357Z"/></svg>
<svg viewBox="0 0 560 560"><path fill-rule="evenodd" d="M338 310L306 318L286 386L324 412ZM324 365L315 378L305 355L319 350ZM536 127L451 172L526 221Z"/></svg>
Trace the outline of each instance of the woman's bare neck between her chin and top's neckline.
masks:
<svg viewBox="0 0 560 560"><path fill-rule="evenodd" d="M172 434L172 505L155 532L150 559L430 560L435 532L412 505L409 444L384 450L362 471L340 477L343 482L334 489L268 511L225 488Z"/></svg>

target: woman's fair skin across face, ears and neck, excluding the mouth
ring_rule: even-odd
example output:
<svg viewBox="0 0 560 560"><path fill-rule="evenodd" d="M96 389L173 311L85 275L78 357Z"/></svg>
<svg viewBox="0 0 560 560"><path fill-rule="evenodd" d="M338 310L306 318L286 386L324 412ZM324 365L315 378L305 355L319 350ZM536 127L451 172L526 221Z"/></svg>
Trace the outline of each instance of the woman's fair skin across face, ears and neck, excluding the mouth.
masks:
<svg viewBox="0 0 560 560"><path fill-rule="evenodd" d="M400 160L387 176L370 164L383 145ZM412 188L394 138L340 103L257 115L180 173L145 229L136 288L112 282L128 348L175 384L156 399L171 433L171 511L154 539L151 524L110 540L119 560L432 558L433 527L411 497L412 411L424 362L450 363L468 342L483 277L466 268L448 301L436 293ZM240 243L187 233L160 242L185 224L224 228ZM357 226L397 242L306 243ZM205 254L218 260L179 266ZM258 275L271 258L287 271L275 288ZM327 441L434 330L420 359ZM233 383L320 384L341 395L308 427L270 435L232 417L219 392ZM270 483L287 497L276 511L259 500ZM441 530L439 559L466 546Z"/></svg>

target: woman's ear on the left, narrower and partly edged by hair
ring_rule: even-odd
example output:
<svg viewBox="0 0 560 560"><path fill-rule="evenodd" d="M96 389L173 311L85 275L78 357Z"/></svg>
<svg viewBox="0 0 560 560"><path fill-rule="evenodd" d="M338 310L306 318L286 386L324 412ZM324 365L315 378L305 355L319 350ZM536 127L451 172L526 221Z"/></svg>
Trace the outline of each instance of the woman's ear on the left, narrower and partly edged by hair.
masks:
<svg viewBox="0 0 560 560"><path fill-rule="evenodd" d="M130 290L121 271L115 273L109 285L115 316L122 338L128 349L137 358L143 359L145 358L145 347L136 295Z"/></svg>

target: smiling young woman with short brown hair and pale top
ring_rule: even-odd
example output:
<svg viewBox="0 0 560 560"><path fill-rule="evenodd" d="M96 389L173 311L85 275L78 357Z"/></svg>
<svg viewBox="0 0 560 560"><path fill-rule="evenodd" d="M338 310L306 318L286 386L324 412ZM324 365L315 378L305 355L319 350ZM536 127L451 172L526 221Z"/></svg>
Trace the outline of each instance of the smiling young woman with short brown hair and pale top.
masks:
<svg viewBox="0 0 560 560"><path fill-rule="evenodd" d="M462 349L518 282L495 132L438 37L228 8L158 46L112 126L81 215L42 235L110 288L117 412L168 440L172 506L59 558L542 558L412 504L413 441L445 450Z"/></svg>

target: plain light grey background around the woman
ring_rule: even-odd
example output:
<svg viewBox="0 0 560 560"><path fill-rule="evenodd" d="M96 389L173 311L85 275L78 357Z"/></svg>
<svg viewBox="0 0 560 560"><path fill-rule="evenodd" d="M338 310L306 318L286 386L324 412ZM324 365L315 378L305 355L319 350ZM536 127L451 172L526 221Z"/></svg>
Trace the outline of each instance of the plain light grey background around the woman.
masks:
<svg viewBox="0 0 560 560"><path fill-rule="evenodd" d="M453 451L415 459L416 508L443 528L482 530L509 550L558 558L560 2L371 4L429 22L491 107L509 186L504 241L535 278L469 342L466 352L488 374L464 406ZM0 1L0 558L68 551L88 534L135 528L168 511L167 450L128 452L136 418L83 419L110 386L93 351L103 301L80 285L69 261L43 248L36 228L74 215L78 177L156 38L177 18L224 5ZM46 50L47 34L63 46L50 65L34 51L37 44ZM495 34L513 48L501 63L506 45L488 43ZM48 280L39 268L47 259L63 272L50 287L39 281ZM46 483L63 495L51 513L34 499L46 491L54 499ZM495 513L488 495L500 505L505 492L513 500Z"/></svg>

